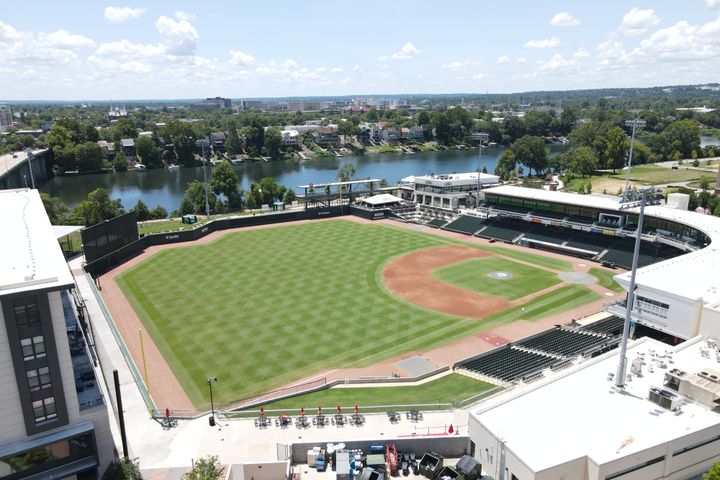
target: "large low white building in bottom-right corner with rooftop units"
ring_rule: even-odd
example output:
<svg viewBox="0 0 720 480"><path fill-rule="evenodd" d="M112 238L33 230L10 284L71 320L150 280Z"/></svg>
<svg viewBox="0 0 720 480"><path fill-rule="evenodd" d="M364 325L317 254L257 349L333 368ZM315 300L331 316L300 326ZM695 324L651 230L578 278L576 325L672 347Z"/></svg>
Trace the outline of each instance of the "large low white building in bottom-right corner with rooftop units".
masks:
<svg viewBox="0 0 720 480"><path fill-rule="evenodd" d="M720 397L714 410L699 399L720 390L711 379L720 353L700 337L674 349L643 338L628 349L642 373L631 374L624 389L612 379L618 355L516 387L471 411L471 450L483 472L506 480L689 479L720 461ZM689 388L692 378L673 383L695 373L708 379L705 386Z"/></svg>

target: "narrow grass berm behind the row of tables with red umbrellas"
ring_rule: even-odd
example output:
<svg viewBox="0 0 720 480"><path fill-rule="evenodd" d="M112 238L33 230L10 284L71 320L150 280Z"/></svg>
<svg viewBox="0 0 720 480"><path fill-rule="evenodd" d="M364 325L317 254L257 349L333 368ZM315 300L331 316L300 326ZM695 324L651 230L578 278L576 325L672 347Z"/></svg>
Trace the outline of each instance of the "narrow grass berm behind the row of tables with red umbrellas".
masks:
<svg viewBox="0 0 720 480"><path fill-rule="evenodd" d="M355 405L361 412L384 412L388 408L367 408L371 405L429 405L438 403L453 403L465 400L495 387L490 383L474 378L452 373L437 380L417 386L404 386L399 384L393 387L357 387L357 388L328 388L306 395L286 398L264 405L266 410L285 410L294 415L304 407L307 413L314 413L318 406L325 412L334 413L338 405L347 413L351 413ZM392 410L392 408L389 408ZM249 410L257 415L257 408ZM279 415L281 412L268 412L269 415Z"/></svg>

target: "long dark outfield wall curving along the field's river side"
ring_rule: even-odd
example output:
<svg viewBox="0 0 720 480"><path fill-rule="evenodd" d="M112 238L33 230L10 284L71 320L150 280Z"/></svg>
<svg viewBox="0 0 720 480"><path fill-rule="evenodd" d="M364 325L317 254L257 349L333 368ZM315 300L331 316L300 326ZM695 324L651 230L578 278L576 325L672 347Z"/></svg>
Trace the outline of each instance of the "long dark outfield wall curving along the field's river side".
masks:
<svg viewBox="0 0 720 480"><path fill-rule="evenodd" d="M171 243L192 242L199 240L212 232L228 230L231 228L254 227L258 225L271 225L275 223L294 222L298 220L317 220L320 218L332 218L351 213L351 207L347 205L313 208L310 210L288 211L278 213L267 213L263 215L248 215L243 217L230 217L212 220L192 230L184 230L171 233L153 233L140 237L138 240L111 252L95 261L85 265L85 271L93 276L99 275L114 268L127 259L139 254L152 245L167 245Z"/></svg>

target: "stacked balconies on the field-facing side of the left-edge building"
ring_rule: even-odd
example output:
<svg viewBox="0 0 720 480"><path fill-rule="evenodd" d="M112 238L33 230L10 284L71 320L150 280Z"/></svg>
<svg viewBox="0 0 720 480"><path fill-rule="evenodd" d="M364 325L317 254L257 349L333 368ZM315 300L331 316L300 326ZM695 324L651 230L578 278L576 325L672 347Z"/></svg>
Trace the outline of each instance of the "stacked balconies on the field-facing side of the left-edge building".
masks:
<svg viewBox="0 0 720 480"><path fill-rule="evenodd" d="M105 405L98 379L95 376L93 352L78 321L74 297L66 290L61 293L61 298L80 411Z"/></svg>

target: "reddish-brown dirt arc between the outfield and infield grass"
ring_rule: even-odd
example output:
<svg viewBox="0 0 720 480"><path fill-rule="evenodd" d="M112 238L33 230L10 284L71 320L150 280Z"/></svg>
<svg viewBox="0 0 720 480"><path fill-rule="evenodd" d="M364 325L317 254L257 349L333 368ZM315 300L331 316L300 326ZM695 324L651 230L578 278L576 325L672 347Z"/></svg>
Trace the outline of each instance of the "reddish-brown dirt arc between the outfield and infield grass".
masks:
<svg viewBox="0 0 720 480"><path fill-rule="evenodd" d="M385 286L394 295L423 308L466 318L481 319L508 308L504 298L480 295L432 276L432 270L471 258L492 256L470 247L437 247L392 260L383 270Z"/></svg>

